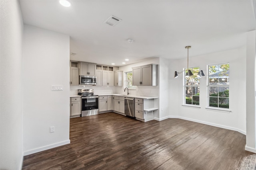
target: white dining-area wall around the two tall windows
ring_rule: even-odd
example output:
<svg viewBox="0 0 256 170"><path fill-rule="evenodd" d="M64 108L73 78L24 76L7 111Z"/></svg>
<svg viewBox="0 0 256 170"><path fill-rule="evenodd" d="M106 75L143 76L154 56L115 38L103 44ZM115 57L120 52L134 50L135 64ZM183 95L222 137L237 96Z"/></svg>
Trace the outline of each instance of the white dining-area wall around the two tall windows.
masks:
<svg viewBox="0 0 256 170"><path fill-rule="evenodd" d="M170 64L170 117L224 127L246 133L246 47L189 58L189 67L199 66L207 73L208 64L230 64L230 113L206 110L207 76L200 78L200 109L183 107L183 76L174 79L174 71L186 67L187 59L171 61Z"/></svg>

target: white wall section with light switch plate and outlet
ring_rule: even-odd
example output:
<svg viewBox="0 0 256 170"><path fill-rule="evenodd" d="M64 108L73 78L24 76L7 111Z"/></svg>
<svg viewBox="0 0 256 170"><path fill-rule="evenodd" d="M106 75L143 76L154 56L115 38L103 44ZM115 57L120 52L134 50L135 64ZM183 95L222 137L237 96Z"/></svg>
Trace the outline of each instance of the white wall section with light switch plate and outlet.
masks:
<svg viewBox="0 0 256 170"><path fill-rule="evenodd" d="M69 44L68 35L24 25L25 155L70 143ZM64 90L51 91L52 85Z"/></svg>

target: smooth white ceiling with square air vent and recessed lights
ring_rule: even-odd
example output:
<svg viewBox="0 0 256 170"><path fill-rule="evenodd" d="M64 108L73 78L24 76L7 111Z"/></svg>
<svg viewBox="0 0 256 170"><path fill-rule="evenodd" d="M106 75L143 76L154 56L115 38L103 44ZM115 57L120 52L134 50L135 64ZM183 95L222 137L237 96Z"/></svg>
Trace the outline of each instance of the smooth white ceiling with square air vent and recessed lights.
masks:
<svg viewBox="0 0 256 170"><path fill-rule="evenodd" d="M250 0L20 0L25 24L70 35L71 60L116 66L242 47L255 29ZM103 23L111 15L122 21ZM127 39L134 39L128 43ZM130 59L126 61L124 59Z"/></svg>

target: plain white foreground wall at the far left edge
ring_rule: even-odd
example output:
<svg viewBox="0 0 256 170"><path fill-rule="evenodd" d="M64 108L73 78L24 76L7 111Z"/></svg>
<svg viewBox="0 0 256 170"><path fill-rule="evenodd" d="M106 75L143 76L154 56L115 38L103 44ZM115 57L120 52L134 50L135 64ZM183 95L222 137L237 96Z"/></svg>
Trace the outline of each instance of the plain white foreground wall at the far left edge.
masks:
<svg viewBox="0 0 256 170"><path fill-rule="evenodd" d="M0 169L21 169L22 36L17 0L0 1Z"/></svg>

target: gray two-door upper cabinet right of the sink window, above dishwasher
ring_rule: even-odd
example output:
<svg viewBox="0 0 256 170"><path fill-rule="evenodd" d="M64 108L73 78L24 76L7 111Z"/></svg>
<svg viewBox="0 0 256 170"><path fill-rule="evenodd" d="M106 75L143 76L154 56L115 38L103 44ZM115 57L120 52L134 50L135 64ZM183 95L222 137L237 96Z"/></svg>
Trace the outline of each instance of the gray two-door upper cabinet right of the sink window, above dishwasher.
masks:
<svg viewBox="0 0 256 170"><path fill-rule="evenodd" d="M133 86L157 86L157 64L132 68Z"/></svg>

